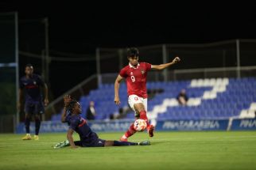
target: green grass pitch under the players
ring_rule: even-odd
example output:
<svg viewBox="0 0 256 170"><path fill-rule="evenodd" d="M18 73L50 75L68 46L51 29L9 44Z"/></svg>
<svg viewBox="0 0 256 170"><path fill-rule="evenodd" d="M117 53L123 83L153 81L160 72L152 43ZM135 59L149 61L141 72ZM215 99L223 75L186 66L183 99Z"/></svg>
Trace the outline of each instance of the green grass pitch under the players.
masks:
<svg viewBox="0 0 256 170"><path fill-rule="evenodd" d="M117 140L122 133L99 133ZM0 169L256 169L256 131L137 133L131 142L149 146L52 149L66 134L0 134ZM74 138L78 140L78 135Z"/></svg>

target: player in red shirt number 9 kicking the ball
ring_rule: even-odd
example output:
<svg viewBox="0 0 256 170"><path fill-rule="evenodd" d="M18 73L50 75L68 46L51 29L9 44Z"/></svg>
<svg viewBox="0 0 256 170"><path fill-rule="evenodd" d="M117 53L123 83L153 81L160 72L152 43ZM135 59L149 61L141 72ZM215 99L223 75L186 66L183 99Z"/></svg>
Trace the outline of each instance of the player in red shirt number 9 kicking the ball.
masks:
<svg viewBox="0 0 256 170"><path fill-rule="evenodd" d="M128 103L130 108L135 111L136 119L144 119L147 123L147 130L149 137L153 137L153 125L149 124L146 111L147 111L147 90L146 90L146 75L151 69L153 70L163 70L169 66L172 66L176 62L180 61L179 57L173 59L172 62L161 64L161 65L151 65L147 62L138 62L138 49L136 47L131 47L127 49L127 59L129 60L128 66L125 66L120 70L118 77L114 82L114 103L120 104L119 99L119 85L122 79L126 79L127 93L128 93ZM130 126L129 130L123 134L120 141L127 141L131 135L136 132L134 130L134 123Z"/></svg>

